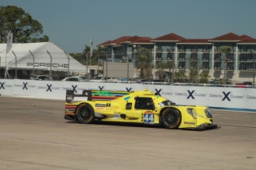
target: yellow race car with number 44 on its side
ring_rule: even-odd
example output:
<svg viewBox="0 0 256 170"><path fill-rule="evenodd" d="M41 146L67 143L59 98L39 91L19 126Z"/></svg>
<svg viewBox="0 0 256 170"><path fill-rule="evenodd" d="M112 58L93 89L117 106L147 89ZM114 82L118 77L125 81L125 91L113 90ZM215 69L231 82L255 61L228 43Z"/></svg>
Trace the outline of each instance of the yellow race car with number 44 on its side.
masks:
<svg viewBox="0 0 256 170"><path fill-rule="evenodd" d="M85 99L75 102L75 97ZM134 92L84 90L82 95L67 90L65 119L86 124L93 121L160 124L166 129L217 128L209 107L177 106L148 89Z"/></svg>

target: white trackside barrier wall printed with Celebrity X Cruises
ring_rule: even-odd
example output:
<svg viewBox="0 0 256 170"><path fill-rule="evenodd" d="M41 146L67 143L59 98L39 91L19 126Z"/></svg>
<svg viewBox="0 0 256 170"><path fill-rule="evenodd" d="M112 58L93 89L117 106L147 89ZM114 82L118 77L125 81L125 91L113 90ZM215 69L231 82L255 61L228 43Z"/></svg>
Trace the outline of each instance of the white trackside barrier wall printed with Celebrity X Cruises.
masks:
<svg viewBox="0 0 256 170"><path fill-rule="evenodd" d="M63 100L67 89L79 95L84 89L132 92L146 88L179 105L249 109L256 112L256 89L252 88L0 79L1 95Z"/></svg>

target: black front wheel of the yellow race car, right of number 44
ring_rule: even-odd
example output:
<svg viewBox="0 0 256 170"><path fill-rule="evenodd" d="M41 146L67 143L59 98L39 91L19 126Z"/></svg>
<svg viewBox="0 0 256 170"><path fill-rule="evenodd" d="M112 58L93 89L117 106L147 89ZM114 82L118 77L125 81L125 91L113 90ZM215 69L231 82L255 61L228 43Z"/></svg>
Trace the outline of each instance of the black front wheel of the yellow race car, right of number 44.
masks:
<svg viewBox="0 0 256 170"><path fill-rule="evenodd" d="M166 129L177 129L181 123L181 115L177 109L168 108L161 116L162 126Z"/></svg>

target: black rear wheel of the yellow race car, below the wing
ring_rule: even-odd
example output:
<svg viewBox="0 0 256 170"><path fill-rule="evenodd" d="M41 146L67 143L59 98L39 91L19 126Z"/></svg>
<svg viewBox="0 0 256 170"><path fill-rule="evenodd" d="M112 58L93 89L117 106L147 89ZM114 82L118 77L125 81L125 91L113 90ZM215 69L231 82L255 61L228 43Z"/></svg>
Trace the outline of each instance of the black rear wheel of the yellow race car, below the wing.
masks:
<svg viewBox="0 0 256 170"><path fill-rule="evenodd" d="M79 123L89 124L93 122L94 111L90 104L82 103L76 109L76 120Z"/></svg>

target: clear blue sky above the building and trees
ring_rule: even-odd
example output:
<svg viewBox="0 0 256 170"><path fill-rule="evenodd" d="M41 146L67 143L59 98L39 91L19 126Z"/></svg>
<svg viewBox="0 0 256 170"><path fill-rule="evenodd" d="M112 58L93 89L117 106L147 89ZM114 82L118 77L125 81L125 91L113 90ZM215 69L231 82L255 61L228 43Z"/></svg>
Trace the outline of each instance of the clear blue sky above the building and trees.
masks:
<svg viewBox="0 0 256 170"><path fill-rule="evenodd" d="M256 38L255 0L0 0L43 27L65 52L80 53L121 36L215 38L226 33ZM1 16L0 16L1 17Z"/></svg>

